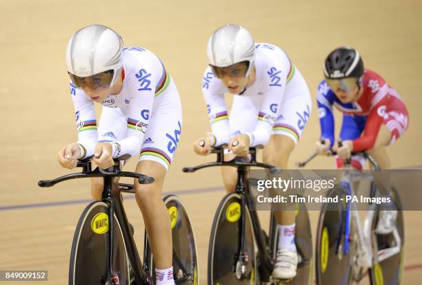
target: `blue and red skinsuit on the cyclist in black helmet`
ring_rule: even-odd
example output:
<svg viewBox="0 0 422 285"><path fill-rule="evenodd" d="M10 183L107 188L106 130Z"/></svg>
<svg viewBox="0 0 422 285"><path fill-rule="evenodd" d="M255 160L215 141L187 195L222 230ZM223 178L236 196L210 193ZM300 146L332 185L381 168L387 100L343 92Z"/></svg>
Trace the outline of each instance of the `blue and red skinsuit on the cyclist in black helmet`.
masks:
<svg viewBox="0 0 422 285"><path fill-rule="evenodd" d="M388 144L403 135L408 128L409 116L399 94L384 79L372 70L365 69L361 85L363 94L358 101L341 103L325 80L319 83L316 101L321 123L321 137L334 143L334 116L332 106L343 112L341 140L353 140L353 151L371 149L378 136L379 128L385 125L391 133ZM362 134L363 133L363 134ZM353 167L361 169L362 160L352 159ZM337 161L341 167L342 161ZM340 164L340 165L339 165Z"/></svg>

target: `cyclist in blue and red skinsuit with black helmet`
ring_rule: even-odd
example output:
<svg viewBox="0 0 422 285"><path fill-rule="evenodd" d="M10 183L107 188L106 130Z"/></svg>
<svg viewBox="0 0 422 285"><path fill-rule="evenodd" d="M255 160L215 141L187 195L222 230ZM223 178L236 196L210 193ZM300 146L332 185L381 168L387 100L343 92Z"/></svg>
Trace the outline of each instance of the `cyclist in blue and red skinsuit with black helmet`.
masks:
<svg viewBox="0 0 422 285"><path fill-rule="evenodd" d="M341 168L343 159L350 158L352 151L367 151L381 169L389 169L385 147L403 135L409 121L399 94L379 74L365 69L359 52L351 47L339 47L328 55L324 76L316 95L321 123L316 152L327 154L330 148L336 151L336 167ZM334 144L332 106L343 112L342 147ZM362 169L364 163L362 156L352 156L354 168ZM395 211L381 211L376 232L390 233L395 217Z"/></svg>

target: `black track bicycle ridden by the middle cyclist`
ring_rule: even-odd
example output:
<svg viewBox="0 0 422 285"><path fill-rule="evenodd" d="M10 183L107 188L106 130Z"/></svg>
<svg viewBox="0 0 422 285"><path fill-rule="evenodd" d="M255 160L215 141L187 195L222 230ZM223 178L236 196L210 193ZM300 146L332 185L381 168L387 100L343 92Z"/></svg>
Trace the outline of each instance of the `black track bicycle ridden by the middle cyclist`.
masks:
<svg viewBox="0 0 422 285"><path fill-rule="evenodd" d="M236 157L224 160L224 148L214 147L216 162L184 167L194 172L206 167L237 167L238 180L234 193L228 193L214 215L208 249L208 284L312 284L312 235L308 211L297 204L295 242L298 253L297 276L288 280L272 279L277 252L277 222L270 218L269 234L261 229L257 211L251 211L250 167L279 171L272 165L257 162L257 147L250 147L250 160ZM252 179L252 178L251 178Z"/></svg>

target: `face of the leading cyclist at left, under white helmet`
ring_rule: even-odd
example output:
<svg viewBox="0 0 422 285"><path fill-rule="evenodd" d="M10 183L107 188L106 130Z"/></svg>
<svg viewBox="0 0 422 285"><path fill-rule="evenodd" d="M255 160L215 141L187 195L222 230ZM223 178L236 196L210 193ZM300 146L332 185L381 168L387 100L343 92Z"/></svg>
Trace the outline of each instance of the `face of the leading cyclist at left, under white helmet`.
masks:
<svg viewBox="0 0 422 285"><path fill-rule="evenodd" d="M112 80L112 72L101 72L88 77L78 77L70 74L77 87L81 87L92 101L100 103L106 100L110 94L110 83Z"/></svg>

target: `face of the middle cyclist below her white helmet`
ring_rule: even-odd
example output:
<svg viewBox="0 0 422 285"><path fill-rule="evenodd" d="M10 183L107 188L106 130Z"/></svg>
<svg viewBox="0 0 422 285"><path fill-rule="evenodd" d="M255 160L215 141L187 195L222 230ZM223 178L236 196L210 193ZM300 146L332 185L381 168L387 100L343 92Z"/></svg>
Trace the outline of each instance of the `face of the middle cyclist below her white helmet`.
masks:
<svg viewBox="0 0 422 285"><path fill-rule="evenodd" d="M228 67L211 66L214 74L223 82L231 94L239 94L248 84L248 63L236 63Z"/></svg>

